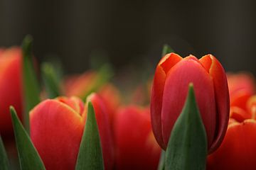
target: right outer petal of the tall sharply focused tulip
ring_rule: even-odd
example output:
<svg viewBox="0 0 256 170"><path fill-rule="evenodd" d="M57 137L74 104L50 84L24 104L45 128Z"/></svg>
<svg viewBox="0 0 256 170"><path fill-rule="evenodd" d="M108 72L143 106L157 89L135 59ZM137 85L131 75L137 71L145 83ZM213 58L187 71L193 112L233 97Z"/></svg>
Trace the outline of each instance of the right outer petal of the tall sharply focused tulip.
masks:
<svg viewBox="0 0 256 170"><path fill-rule="evenodd" d="M209 72L210 76L213 78L214 91L215 91L215 101L217 106L217 125L215 134L217 136L214 137L213 144L209 149L209 153L213 152L217 149L221 142L223 141L223 137L225 136L225 132L228 128L228 118L229 118L229 94L228 94L228 82L227 77L225 75L225 70L221 66L220 62L213 57L213 55L206 55L200 59L201 64L206 68ZM210 66L210 67L209 67Z"/></svg>

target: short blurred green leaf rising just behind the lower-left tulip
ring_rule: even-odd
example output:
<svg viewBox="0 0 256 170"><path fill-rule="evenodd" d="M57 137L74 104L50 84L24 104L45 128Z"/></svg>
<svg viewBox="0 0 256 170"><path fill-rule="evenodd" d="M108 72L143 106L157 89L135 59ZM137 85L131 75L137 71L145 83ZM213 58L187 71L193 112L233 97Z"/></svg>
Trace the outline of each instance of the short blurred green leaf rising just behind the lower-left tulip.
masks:
<svg viewBox="0 0 256 170"><path fill-rule="evenodd" d="M41 68L43 83L46 87L48 98L56 98L57 96L60 96L60 84L53 64L44 62L41 65Z"/></svg>

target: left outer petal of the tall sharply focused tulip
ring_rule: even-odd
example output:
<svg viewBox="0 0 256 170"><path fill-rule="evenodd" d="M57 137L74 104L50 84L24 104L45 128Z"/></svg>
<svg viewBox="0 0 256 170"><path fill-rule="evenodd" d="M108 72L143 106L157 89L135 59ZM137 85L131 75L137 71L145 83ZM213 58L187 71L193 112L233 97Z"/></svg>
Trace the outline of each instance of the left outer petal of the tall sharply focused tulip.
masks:
<svg viewBox="0 0 256 170"><path fill-rule="evenodd" d="M154 81L151 92L151 123L156 137L156 141L162 148L166 148L162 135L161 125L161 107L163 101L164 84L166 81L166 74L171 67L174 67L176 63L182 60L182 57L175 53L164 56L156 67L154 75Z"/></svg>

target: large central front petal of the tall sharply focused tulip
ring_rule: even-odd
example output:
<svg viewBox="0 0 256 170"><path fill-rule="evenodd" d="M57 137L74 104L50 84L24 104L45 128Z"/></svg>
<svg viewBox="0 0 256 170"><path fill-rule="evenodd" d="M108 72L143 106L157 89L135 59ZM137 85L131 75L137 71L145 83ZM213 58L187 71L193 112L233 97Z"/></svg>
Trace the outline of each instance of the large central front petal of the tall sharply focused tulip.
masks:
<svg viewBox="0 0 256 170"><path fill-rule="evenodd" d="M215 135L215 96L213 80L196 59L189 56L178 62L167 74L161 111L164 144L167 145L171 129L180 115L188 94L188 84L193 83L196 103L201 113L208 137L208 147ZM170 109L171 108L171 109Z"/></svg>

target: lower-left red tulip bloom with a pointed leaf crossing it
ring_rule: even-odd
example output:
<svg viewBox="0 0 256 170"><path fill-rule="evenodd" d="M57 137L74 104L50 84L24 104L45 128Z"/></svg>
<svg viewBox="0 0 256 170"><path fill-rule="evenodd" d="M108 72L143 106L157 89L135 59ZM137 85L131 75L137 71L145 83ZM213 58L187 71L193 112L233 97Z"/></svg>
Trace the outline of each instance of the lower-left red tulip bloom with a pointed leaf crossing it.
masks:
<svg viewBox="0 0 256 170"><path fill-rule="evenodd" d="M105 169L112 169L114 151L105 104L97 94L88 98L95 108ZM33 108L31 140L46 169L75 169L86 115L86 106L77 97L48 99Z"/></svg>

